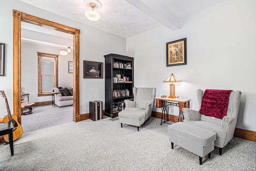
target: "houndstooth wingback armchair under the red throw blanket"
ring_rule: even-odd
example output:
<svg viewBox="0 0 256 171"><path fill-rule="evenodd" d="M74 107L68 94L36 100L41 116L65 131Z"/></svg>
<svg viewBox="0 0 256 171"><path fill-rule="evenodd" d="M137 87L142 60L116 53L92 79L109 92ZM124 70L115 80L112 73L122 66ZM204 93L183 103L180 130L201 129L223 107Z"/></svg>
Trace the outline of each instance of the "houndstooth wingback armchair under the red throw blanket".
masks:
<svg viewBox="0 0 256 171"><path fill-rule="evenodd" d="M198 89L196 91L199 103L199 110L202 105L203 94L204 91L202 91L201 89ZM225 147L228 142L233 138L236 128L241 94L242 93L240 91L232 91L230 93L226 116L224 116L222 119L203 115L199 113L199 111L193 109L182 109L185 117L185 119L183 120L184 123L188 123L216 132L216 140L214 141L214 146L219 147L220 155L222 155L222 148Z"/></svg>

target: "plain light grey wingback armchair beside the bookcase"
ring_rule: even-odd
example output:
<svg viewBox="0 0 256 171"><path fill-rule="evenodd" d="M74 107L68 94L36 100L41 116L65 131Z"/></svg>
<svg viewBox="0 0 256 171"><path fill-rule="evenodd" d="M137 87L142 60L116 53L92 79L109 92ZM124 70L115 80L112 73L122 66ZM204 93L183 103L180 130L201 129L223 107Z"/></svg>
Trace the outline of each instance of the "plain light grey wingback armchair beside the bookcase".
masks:
<svg viewBox="0 0 256 171"><path fill-rule="evenodd" d="M145 121L151 116L156 88L137 88L132 89L134 101L124 100L125 109L145 111Z"/></svg>

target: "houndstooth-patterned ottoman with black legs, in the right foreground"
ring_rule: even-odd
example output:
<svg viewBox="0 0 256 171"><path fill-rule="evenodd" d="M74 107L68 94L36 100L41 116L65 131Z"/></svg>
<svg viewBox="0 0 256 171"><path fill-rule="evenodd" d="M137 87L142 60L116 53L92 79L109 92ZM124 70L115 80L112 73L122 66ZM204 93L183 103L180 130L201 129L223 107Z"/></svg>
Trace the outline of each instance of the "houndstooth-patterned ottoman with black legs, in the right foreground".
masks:
<svg viewBox="0 0 256 171"><path fill-rule="evenodd" d="M199 156L202 165L202 157L214 150L216 133L208 129L196 127L183 122L177 122L168 126L169 141Z"/></svg>

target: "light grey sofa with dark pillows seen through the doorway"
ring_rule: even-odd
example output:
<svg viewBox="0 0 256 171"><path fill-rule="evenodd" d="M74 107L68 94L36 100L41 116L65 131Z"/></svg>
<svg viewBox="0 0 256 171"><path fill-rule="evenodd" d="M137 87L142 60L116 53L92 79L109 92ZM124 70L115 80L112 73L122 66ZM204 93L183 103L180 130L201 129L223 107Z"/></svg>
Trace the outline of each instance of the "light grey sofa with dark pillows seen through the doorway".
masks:
<svg viewBox="0 0 256 171"><path fill-rule="evenodd" d="M61 87L64 88L64 86L61 86ZM67 87L67 88L69 89L72 87ZM58 87L54 87L53 90L54 90L54 93L60 92ZM57 105L58 107L73 105L73 95L63 96L62 93L56 93L54 94L54 104Z"/></svg>

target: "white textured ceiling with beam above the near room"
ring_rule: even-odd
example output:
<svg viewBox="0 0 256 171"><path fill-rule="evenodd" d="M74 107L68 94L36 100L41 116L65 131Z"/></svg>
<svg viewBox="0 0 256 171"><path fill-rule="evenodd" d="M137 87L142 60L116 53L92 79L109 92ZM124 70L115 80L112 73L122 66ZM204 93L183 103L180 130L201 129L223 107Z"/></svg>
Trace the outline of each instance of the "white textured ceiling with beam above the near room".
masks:
<svg viewBox="0 0 256 171"><path fill-rule="evenodd" d="M32 6L129 38L159 26L180 29L180 18L226 0L100 0L101 19L89 21L84 0L20 0ZM58 10L57 10L58 9ZM72 27L72 26L71 26Z"/></svg>

